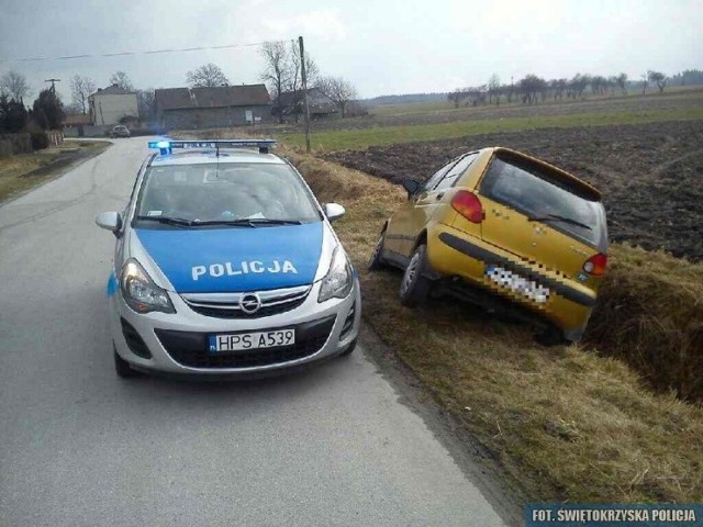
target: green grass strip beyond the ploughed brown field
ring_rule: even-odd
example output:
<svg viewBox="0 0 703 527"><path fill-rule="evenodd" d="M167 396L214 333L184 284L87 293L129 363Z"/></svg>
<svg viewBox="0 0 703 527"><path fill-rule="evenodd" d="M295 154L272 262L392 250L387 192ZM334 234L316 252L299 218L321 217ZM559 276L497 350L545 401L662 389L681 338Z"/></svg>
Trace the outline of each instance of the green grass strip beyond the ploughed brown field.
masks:
<svg viewBox="0 0 703 527"><path fill-rule="evenodd" d="M566 115L458 121L405 126L378 126L358 130L333 130L315 132L312 135L312 147L317 150L362 149L371 145L383 146L416 141L436 141L464 137L467 135L521 132L536 128L570 128L667 121L696 121L701 119L703 119L703 106L693 106L667 110L607 113L589 112ZM303 146L305 144L305 136L303 134L282 134L281 137L287 143L295 146Z"/></svg>

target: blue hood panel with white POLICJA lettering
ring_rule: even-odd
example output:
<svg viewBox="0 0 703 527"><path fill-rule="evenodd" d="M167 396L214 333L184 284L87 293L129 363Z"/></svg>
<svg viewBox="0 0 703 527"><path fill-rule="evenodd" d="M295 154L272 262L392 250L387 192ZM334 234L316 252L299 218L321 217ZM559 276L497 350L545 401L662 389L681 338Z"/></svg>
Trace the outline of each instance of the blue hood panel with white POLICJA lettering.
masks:
<svg viewBox="0 0 703 527"><path fill-rule="evenodd" d="M276 227L137 228L179 293L263 291L312 283L323 222Z"/></svg>

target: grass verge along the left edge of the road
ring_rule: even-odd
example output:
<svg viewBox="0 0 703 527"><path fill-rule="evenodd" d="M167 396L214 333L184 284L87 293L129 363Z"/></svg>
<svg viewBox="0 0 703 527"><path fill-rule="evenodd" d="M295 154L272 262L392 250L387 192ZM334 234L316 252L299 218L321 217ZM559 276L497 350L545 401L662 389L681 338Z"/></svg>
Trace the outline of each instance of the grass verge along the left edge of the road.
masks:
<svg viewBox="0 0 703 527"><path fill-rule="evenodd" d="M110 144L107 141L66 141L59 148L0 159L0 203L53 179L79 159L97 156Z"/></svg>

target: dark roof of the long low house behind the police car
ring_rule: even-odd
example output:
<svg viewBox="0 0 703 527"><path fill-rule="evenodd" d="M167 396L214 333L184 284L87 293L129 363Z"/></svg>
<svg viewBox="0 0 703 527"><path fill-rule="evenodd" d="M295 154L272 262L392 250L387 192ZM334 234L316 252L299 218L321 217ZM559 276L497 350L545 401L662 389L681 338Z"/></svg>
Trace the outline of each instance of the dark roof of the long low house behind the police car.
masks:
<svg viewBox="0 0 703 527"><path fill-rule="evenodd" d="M164 88L155 91L159 110L189 108L250 106L270 104L264 85L220 86L213 88Z"/></svg>

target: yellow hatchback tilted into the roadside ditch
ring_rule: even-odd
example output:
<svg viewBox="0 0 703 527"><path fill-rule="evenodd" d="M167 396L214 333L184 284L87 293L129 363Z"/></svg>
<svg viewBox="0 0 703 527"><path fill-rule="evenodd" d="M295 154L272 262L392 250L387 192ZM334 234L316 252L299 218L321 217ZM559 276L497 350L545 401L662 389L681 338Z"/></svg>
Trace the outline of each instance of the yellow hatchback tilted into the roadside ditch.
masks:
<svg viewBox="0 0 703 527"><path fill-rule="evenodd" d="M404 269L403 305L450 294L538 314L545 344L578 340L607 266L600 192L545 161L493 147L453 159L386 222L369 269Z"/></svg>

